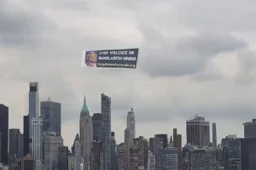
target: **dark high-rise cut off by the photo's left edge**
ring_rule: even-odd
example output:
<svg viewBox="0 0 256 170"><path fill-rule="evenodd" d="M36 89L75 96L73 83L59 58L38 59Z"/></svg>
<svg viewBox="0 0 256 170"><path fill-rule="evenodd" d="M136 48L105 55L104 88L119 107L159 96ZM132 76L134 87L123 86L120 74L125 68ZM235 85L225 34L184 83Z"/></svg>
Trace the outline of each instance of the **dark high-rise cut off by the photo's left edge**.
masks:
<svg viewBox="0 0 256 170"><path fill-rule="evenodd" d="M9 107L0 104L1 162L8 164ZM0 162L0 163L1 163Z"/></svg>

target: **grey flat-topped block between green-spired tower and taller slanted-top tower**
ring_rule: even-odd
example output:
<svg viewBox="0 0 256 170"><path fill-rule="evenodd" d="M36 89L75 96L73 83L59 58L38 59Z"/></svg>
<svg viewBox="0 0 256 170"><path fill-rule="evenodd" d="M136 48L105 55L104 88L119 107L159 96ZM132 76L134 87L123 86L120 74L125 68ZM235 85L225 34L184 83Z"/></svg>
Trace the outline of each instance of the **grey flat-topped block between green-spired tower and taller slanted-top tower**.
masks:
<svg viewBox="0 0 256 170"><path fill-rule="evenodd" d="M92 138L95 141L102 141L102 114L95 113L92 120Z"/></svg>

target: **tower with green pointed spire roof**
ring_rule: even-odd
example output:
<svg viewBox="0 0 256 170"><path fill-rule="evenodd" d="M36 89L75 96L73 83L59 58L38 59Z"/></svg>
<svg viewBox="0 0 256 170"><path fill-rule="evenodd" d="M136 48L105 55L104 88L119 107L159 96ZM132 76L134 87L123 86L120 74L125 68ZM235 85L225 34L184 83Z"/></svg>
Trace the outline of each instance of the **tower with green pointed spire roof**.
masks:
<svg viewBox="0 0 256 170"><path fill-rule="evenodd" d="M80 144L81 156L84 158L84 170L89 170L91 142L92 122L84 96L84 105L80 112Z"/></svg>

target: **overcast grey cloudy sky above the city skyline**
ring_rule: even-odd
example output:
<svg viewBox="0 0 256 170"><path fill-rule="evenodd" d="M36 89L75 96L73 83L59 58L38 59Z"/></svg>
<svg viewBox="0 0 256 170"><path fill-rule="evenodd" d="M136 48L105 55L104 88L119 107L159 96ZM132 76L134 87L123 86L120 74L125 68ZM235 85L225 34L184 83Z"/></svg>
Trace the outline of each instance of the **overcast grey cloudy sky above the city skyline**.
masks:
<svg viewBox="0 0 256 170"><path fill-rule="evenodd" d="M61 102L65 144L112 98L112 128L124 139L134 108L137 136L172 133L186 141L195 114L217 122L218 142L243 136L256 117L256 2L253 0L1 0L0 103L23 130L28 84L40 100ZM140 48L137 69L80 67L84 50Z"/></svg>

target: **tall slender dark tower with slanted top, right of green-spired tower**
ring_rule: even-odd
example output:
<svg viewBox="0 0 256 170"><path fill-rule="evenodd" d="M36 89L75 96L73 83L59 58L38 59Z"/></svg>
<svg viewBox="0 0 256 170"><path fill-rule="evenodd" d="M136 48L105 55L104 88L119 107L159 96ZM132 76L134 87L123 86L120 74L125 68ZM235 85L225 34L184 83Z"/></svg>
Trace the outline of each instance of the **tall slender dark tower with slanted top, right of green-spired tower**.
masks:
<svg viewBox="0 0 256 170"><path fill-rule="evenodd" d="M106 154L106 170L111 170L111 99L102 94L102 142Z"/></svg>

